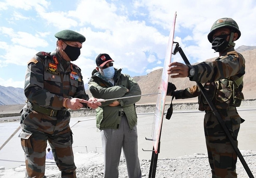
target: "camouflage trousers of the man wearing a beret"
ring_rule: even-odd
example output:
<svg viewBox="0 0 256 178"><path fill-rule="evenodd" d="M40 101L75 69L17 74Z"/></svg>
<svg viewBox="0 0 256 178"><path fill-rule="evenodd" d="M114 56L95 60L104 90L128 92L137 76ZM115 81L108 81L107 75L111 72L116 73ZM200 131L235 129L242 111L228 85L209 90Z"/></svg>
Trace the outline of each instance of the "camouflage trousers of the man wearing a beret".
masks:
<svg viewBox="0 0 256 178"><path fill-rule="evenodd" d="M44 173L47 141L52 148L56 165L61 171L61 177L76 178L69 121L69 112L62 118L57 118L28 108L22 111L22 132L19 137L25 153L25 178L46 178Z"/></svg>

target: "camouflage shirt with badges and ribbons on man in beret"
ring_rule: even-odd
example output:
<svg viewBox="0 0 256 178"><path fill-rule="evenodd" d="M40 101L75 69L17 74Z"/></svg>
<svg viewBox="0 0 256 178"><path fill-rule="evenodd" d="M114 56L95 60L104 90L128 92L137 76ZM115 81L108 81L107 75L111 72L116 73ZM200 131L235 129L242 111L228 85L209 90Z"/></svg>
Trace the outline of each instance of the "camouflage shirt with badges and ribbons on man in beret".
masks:
<svg viewBox="0 0 256 178"><path fill-rule="evenodd" d="M89 99L80 68L56 51L39 52L28 61L24 93L28 102L51 110L66 110L63 98Z"/></svg>

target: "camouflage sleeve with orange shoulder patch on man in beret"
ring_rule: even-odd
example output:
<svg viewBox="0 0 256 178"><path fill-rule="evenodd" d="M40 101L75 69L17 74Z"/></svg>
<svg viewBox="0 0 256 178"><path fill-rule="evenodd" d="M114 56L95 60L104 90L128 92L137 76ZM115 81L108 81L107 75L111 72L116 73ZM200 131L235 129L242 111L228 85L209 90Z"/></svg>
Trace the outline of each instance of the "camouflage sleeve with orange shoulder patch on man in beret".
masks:
<svg viewBox="0 0 256 178"><path fill-rule="evenodd" d="M28 62L24 93L26 98L35 104L62 108L63 97L44 89L44 60L37 55Z"/></svg>

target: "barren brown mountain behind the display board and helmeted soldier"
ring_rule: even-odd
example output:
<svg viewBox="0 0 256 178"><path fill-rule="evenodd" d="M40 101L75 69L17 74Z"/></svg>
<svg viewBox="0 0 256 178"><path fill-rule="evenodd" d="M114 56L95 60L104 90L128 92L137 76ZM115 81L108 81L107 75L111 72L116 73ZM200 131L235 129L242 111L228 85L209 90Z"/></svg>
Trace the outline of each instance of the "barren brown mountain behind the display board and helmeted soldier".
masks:
<svg viewBox="0 0 256 178"><path fill-rule="evenodd" d="M245 99L254 99L256 98L256 49L243 51L241 54L244 56L246 60L246 73L244 75L244 97ZM213 59L208 59L206 61L213 61ZM160 79L162 76L162 70L158 69L150 72L145 76L134 77L140 88L142 90L142 94L156 93L158 92L158 86L160 86ZM175 84L177 90L182 90L186 87L196 85L196 82L191 82L188 77L186 78L169 78L169 82ZM141 100L137 104L155 104L157 95L149 95L142 96ZM167 96L166 103L170 103L170 96ZM173 102L181 102L173 101ZM182 102L197 102L197 98L185 99Z"/></svg>

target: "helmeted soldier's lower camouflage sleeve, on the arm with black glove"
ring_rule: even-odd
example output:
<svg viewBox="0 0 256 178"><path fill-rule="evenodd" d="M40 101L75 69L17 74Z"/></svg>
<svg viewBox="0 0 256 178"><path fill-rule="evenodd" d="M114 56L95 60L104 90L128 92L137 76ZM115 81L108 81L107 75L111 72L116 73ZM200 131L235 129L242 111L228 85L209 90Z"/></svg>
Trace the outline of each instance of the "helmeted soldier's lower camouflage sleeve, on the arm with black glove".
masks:
<svg viewBox="0 0 256 178"><path fill-rule="evenodd" d="M184 90L174 91L175 99L186 99L197 97L200 93L200 89L197 85L192 86L191 88L186 88Z"/></svg>

